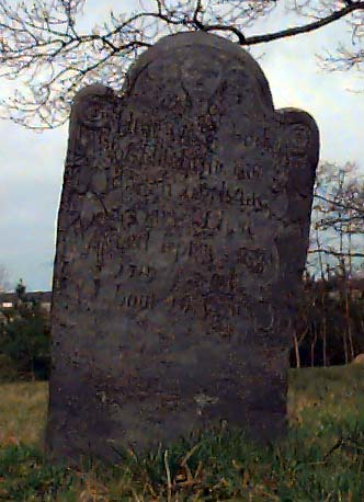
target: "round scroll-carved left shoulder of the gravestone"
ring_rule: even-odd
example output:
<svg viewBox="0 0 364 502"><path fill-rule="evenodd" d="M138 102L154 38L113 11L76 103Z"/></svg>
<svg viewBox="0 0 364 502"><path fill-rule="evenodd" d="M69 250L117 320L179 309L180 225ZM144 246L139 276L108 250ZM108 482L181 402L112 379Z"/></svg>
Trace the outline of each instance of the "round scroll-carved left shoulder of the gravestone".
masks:
<svg viewBox="0 0 364 502"><path fill-rule="evenodd" d="M102 84L92 84L79 91L72 103L71 122L100 129L107 126L110 115L120 98Z"/></svg>

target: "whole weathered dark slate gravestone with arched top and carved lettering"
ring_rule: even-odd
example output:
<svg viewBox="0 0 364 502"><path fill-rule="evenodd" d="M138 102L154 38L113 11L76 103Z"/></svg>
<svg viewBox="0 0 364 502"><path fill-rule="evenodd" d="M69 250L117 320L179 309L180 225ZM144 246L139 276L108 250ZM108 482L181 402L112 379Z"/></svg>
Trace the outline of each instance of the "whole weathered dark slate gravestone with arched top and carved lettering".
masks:
<svg viewBox="0 0 364 502"><path fill-rule="evenodd" d="M225 424L286 432L318 129L216 35L162 38L72 105L47 448L118 459Z"/></svg>

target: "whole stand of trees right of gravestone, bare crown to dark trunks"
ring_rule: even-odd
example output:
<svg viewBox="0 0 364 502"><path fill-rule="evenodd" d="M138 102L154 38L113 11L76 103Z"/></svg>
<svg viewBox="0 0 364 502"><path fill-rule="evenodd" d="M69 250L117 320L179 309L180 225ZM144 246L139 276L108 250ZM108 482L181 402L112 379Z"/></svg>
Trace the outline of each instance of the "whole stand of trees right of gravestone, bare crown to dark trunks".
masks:
<svg viewBox="0 0 364 502"><path fill-rule="evenodd" d="M348 364L364 352L364 183L357 167L321 164L291 364ZM315 256L315 267L312 258ZM315 273L309 270L315 269Z"/></svg>

